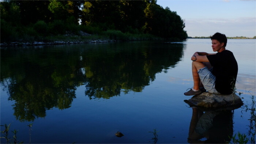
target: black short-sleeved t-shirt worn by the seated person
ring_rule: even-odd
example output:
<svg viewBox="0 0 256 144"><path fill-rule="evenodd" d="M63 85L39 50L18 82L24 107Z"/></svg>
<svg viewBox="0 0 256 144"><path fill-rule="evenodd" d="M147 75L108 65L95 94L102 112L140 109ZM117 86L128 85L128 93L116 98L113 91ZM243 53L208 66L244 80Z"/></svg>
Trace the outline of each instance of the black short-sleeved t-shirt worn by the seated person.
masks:
<svg viewBox="0 0 256 144"><path fill-rule="evenodd" d="M237 61L233 53L223 50L220 53L208 55L213 69L212 74L216 77L215 88L221 94L231 94L236 84Z"/></svg>

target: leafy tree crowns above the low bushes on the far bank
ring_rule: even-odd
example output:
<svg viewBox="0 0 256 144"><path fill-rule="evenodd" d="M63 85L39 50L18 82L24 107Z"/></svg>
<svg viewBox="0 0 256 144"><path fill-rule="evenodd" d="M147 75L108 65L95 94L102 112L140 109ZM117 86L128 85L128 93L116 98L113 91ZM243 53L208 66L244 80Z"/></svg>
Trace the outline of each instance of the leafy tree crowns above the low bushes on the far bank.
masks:
<svg viewBox="0 0 256 144"><path fill-rule="evenodd" d="M0 2L1 23L10 27L28 26L38 21L97 27L103 31L148 33L163 38L186 39L185 23L168 7L156 0L4 0ZM68 24L67 24L68 23ZM50 25L49 25L50 27ZM74 27L74 26L73 26ZM1 29L1 31L4 31ZM10 33L5 32L4 33ZM59 31L56 32L57 34ZM2 35L2 34L1 34ZM6 35L2 35L2 37Z"/></svg>

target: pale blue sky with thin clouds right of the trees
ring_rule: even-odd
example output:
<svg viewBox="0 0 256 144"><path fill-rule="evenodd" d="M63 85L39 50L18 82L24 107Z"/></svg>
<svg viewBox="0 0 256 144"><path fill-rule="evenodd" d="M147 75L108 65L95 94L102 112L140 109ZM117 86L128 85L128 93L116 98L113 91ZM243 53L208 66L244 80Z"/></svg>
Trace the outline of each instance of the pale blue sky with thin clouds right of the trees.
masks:
<svg viewBox="0 0 256 144"><path fill-rule="evenodd" d="M256 36L256 0L157 0L185 21L189 37Z"/></svg>

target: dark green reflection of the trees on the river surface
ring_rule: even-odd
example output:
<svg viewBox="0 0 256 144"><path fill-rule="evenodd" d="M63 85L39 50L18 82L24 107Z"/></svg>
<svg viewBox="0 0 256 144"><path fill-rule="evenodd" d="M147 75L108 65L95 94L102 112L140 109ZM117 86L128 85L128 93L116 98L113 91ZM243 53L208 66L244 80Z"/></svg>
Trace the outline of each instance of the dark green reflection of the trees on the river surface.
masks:
<svg viewBox="0 0 256 144"><path fill-rule="evenodd" d="M141 92L182 54L182 43L154 42L1 49L0 80L16 118L33 121L70 107L82 85L90 99Z"/></svg>

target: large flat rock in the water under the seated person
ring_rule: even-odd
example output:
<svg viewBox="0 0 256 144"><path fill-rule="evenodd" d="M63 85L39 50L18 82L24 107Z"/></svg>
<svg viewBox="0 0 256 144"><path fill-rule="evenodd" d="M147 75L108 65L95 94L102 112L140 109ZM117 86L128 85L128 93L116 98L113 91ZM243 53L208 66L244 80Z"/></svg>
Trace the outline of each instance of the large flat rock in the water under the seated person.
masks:
<svg viewBox="0 0 256 144"><path fill-rule="evenodd" d="M184 100L189 106L200 107L203 110L229 109L234 110L241 107L244 103L236 94L222 95L203 92L195 95L189 100Z"/></svg>

